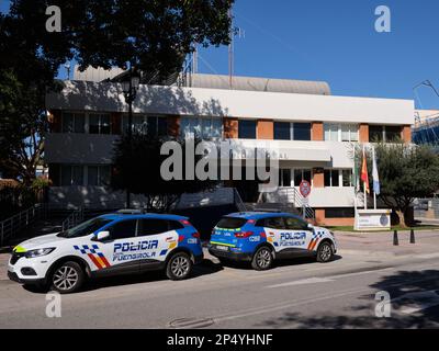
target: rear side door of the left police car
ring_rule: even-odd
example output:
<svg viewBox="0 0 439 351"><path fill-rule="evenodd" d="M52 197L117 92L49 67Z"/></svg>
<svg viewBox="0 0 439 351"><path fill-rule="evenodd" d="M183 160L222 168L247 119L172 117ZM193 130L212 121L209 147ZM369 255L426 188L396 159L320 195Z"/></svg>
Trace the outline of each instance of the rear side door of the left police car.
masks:
<svg viewBox="0 0 439 351"><path fill-rule="evenodd" d="M169 252L178 246L179 235L167 219L142 218L138 220L137 238L145 248L139 267L146 271L165 264Z"/></svg>

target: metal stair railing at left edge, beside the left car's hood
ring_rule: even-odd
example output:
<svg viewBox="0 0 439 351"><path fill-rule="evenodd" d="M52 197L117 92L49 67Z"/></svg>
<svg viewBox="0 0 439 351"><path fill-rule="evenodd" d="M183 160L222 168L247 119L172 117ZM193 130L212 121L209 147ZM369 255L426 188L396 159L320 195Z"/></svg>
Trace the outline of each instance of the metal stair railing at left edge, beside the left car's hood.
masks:
<svg viewBox="0 0 439 351"><path fill-rule="evenodd" d="M3 246L7 239L20 233L35 220L46 216L47 207L45 204L35 204L12 217L0 222L0 246Z"/></svg>

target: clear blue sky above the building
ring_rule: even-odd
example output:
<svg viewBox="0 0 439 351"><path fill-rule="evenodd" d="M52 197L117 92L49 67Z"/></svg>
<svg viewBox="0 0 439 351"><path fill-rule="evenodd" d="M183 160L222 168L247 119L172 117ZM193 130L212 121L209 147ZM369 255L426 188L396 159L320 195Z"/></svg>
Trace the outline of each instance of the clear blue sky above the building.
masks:
<svg viewBox="0 0 439 351"><path fill-rule="evenodd" d="M0 0L4 9L4 0ZM391 9L392 32L374 30L378 5ZM237 0L235 75L325 80L337 95L415 99L439 109L437 0ZM227 73L227 47L200 50L199 71ZM65 77L65 69L60 77Z"/></svg>

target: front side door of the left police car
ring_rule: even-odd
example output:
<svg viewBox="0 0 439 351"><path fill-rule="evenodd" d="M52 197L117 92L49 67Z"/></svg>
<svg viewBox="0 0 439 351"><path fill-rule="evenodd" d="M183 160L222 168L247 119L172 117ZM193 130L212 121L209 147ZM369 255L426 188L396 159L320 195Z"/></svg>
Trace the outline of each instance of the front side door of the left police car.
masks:
<svg viewBox="0 0 439 351"><path fill-rule="evenodd" d="M139 270L139 240L136 237L137 219L122 219L111 224L105 230L110 237L98 241L99 257L104 263L98 270L100 275L134 273ZM95 250L98 251L98 250Z"/></svg>

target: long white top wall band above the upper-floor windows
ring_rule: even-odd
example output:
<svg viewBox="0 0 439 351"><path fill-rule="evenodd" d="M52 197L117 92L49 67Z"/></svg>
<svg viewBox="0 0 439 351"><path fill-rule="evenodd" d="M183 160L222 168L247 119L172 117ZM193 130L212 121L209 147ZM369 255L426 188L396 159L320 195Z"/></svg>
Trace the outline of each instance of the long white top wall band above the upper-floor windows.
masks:
<svg viewBox="0 0 439 351"><path fill-rule="evenodd" d="M127 111L119 83L66 81L48 109ZM414 101L203 88L140 86L135 113L234 116L285 121L414 124Z"/></svg>

